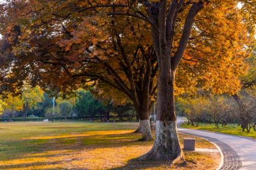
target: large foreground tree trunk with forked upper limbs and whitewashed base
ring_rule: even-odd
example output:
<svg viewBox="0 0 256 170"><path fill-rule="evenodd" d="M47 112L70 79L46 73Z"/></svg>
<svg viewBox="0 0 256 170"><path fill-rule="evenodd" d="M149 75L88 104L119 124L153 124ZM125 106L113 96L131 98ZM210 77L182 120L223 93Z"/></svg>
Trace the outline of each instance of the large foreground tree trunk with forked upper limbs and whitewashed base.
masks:
<svg viewBox="0 0 256 170"><path fill-rule="evenodd" d="M147 2L147 3L146 3ZM178 3L179 2L179 3ZM157 88L157 121L154 146L148 154L138 158L139 160L171 160L183 159L177 135L176 115L174 107L174 79L175 72L182 59L183 53L190 38L191 28L197 12L204 7L204 2L193 2L185 19L182 37L174 56L172 42L174 39L176 18L179 8L184 1L144 1L148 7L149 19L154 26L152 39L159 64L159 78ZM208 1L205 1L208 2ZM169 4L167 12L166 5ZM167 15L166 15L167 13Z"/></svg>

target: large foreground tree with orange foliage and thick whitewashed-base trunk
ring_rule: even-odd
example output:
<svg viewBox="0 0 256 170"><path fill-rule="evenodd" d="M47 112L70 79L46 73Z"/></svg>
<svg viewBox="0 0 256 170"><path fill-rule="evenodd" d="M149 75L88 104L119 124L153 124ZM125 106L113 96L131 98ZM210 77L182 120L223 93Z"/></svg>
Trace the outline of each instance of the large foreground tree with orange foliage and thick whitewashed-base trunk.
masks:
<svg viewBox="0 0 256 170"><path fill-rule="evenodd" d="M231 91L231 93L234 94L240 88L239 80L236 78L231 79L233 73L240 73L241 71L243 71L243 67L240 66L240 63L242 61L242 58L240 56L243 55L243 51L244 51L243 49L244 36L242 33L243 18L240 17L239 13L237 12L236 2L237 1L231 1L231 0L226 0L226 1L218 1L218 0L176 1L174 0L168 3L165 0L161 0L161 1L154 1L154 2L117 1L113 4L108 1L87 1L87 2L33 1L30 3L30 7L34 7L32 9L35 9L35 11L40 11L41 15L39 15L39 17L37 17L38 13L32 13L32 15L29 15L31 11L27 4L25 5L20 4L19 8L17 8L18 12L20 9L23 10L20 13L24 14L25 16L24 17L25 19L23 18L24 19L23 23L25 24L23 25L23 27L20 27L20 28L28 29L32 27L32 30L28 30L27 32L25 31L23 33L23 37L27 38L26 35L30 35L30 37L34 37L34 39L28 38L26 40L27 43L20 43L20 42L19 43L23 45L31 44L32 47L34 47L32 49L36 49L36 50L41 47L41 50L37 51L37 53L42 55L37 55L37 56L44 56L44 51L46 47L48 47L48 45L51 44L51 47L48 48L49 53L46 53L46 55L43 58L44 59L42 62L43 64L41 64L40 62L37 62L37 64L30 64L30 69L33 70L33 72L35 72L36 70L35 68L37 68L34 66L40 66L40 69L43 70L44 73L46 73L44 75L49 75L52 72L52 70L55 70L56 67L57 68L59 67L60 68L59 75L63 75L64 72L68 72L69 76L71 75L71 77L76 77L78 73L78 75L84 75L84 76L86 75L86 76L90 76L90 78L98 78L99 74L97 74L96 76L95 75L91 76L90 73L88 72L86 73L83 72L82 74L80 74L81 71L86 70L87 67L80 67L80 65L77 64L79 62L73 62L72 64L71 62L68 61L65 64L63 64L63 61L65 61L64 56L66 53L68 53L69 55L68 58L73 58L73 56L80 56L77 54L74 55L74 53L69 53L69 49L71 48L71 45L72 45L72 48L76 49L76 50L72 50L72 52L74 51L79 52L79 50L81 49L80 47L82 47L82 50L80 50L82 54L84 53L92 54L95 58L95 52L96 54L102 53L102 52L98 50L91 52L91 49L93 49L94 47L97 47L96 46L97 42L102 40L104 41L106 39L108 40L108 38L109 39L111 38L111 36L106 37L104 33L102 34L102 32L99 32L99 30L97 30L98 27L96 27L98 25L101 25L102 21L104 21L107 18L107 16L110 16L111 19L113 18L120 19L120 17L118 16L121 15L121 16L127 16L126 18L138 18L143 20L144 22L147 22L149 25L151 25L151 37L153 42L152 44L154 45L154 53L157 56L158 66L159 66L159 69L158 69L159 77L158 77L158 88L157 88L157 93L158 93L157 94L157 137L151 152L141 157L141 159L175 160L176 158L183 158L183 154L179 145L179 139L177 137L176 115L175 115L175 109L174 109L174 79L175 79L177 67L179 66L179 63L182 57L184 56L183 58L190 62L194 62L195 61L194 58L196 58L196 60L203 61L202 63L207 63L207 64L198 64L197 68L205 70L204 73L205 75L207 75L205 76L206 79L215 80L215 81L207 81L206 83L203 83L204 81L201 81L201 84L204 84L204 87L208 88L208 90L213 90L214 92L219 94L223 92ZM243 1L243 2L246 2L246 1ZM26 7L24 8L24 6ZM13 4L10 5L9 7L12 10L15 9L15 8L12 8ZM202 10L203 8L204 10ZM15 19L16 15L12 15L12 10L7 10L7 11L3 10L4 15L2 16L6 18L6 15L9 16L10 14L10 17L8 19L9 21L12 21L12 22L9 22L7 21L8 19L4 19L3 21L4 24L2 26L3 28L6 25L13 26L13 20L19 21ZM218 15L215 15L216 10L218 10ZM201 13L199 13L199 11L201 11ZM104 14L106 14L107 16ZM196 20L198 21L197 22L198 24L194 24L196 23ZM33 21L33 22L30 22L30 21ZM43 24L45 21L51 21L50 22L51 24ZM58 23L57 21L60 21L60 22ZM76 30L77 28L80 29L82 27L79 27L79 23L74 24L73 21L80 21L80 23L82 23L83 26L88 25L90 29L88 28L85 29L85 32L88 30L90 30L90 32L86 35L80 34L80 36L77 36L79 35L79 32L74 32L73 30ZM124 19L123 20L121 19L118 21L124 21ZM200 22L200 21L203 21L203 22ZM46 23L49 23L49 22L46 22ZM68 23L68 24L63 25L62 23ZM111 25L113 22L109 22L109 23ZM16 23L14 22L14 24ZM133 23L131 24L133 25ZM222 27L221 25L224 25L224 27ZM236 28L234 27L234 25L238 26L237 28L239 29L233 29L233 28ZM208 26L210 30L207 30L207 27L205 26ZM3 32L9 33L9 35L13 37L10 39L13 40L12 42L15 42L17 39L15 37L17 36L12 36L12 35L17 35L17 33L13 32L12 29L7 29L7 27L5 28L6 29L4 29ZM97 39L92 38L91 40L93 43L91 43L91 41L89 41L89 43L87 43L88 41L80 41L81 39L78 38L78 37L85 37L85 39L88 40L89 38L87 35L95 35L96 30L99 37ZM58 33L62 33L62 32L65 32L65 38L62 38L62 36L58 36L59 35ZM33 33L33 35L35 36L31 36L31 33ZM190 35L193 35L193 36L190 37ZM218 35L218 36L215 37L215 35ZM38 42L38 40L41 40L41 38L49 40L49 36L50 37L54 36L55 40L52 38L50 39L50 41L43 41L44 43L41 43L40 46L38 46L38 44L33 43L33 42ZM121 36L121 34L118 34L118 36L117 37L114 36L116 42L118 42L118 39L123 37ZM200 37L201 41L199 41L197 37ZM19 36L19 38L22 38L22 37ZM188 46L188 49L194 49L195 47L196 49L185 51L189 40L190 40L190 44ZM18 41L20 41L20 39L18 39ZM49 43L52 41L57 41L60 43L56 43L56 42ZM80 42L84 42L83 43L84 46L77 47L77 45L80 44ZM112 42L112 41L107 41L107 42ZM42 46L43 44L44 46ZM120 46L119 43L117 45ZM215 47L215 48L212 48L213 50L211 50L212 46ZM25 47L23 46L22 48L23 51L26 51L27 47L29 46L25 46ZM30 47L28 49L31 50ZM123 48L119 47L119 50L118 50L121 53L121 55L124 52L122 49ZM198 49L199 51L197 51ZM200 49L205 49L205 50L201 51ZM52 54L52 50L56 52L58 55L49 55L49 54ZM208 56L207 54L205 55L205 52L206 53L210 52L210 59L207 58ZM23 54L23 53L19 53L19 54ZM33 55L34 54L35 54L35 51L33 51ZM63 58L56 57L60 55L64 55ZM51 56L51 59L54 59L53 61L57 60L59 62L55 63L52 61L45 61L45 58L49 58L49 56ZM81 60L84 60L82 56L81 56L82 58ZM124 58L124 62L126 63L125 58ZM213 58L214 58L214 61L212 61ZM40 59L42 61L42 58ZM102 58L99 58L99 59L102 61ZM95 60L93 60L93 62L95 62ZM44 67L45 66L44 64L47 64L47 63L50 64L50 67L49 66ZM150 62L148 63L151 64ZM86 63L86 66L88 66L87 64L88 63ZM105 65L104 62L102 64ZM226 64L228 64L229 66L228 69L225 69L224 67L226 66ZM55 66L55 67L52 67L52 66ZM80 68L82 68L82 70L80 70ZM98 69L98 67L93 67L93 68ZM129 62L128 64L126 63L125 68L127 72L130 72ZM216 68L221 70L221 72L219 73L215 72L214 70ZM110 68L108 67L108 69ZM20 70L20 68L16 70L18 71ZM207 72L208 70L210 71L210 73ZM75 71L75 73L71 73L72 71ZM15 69L13 70L13 72L15 72ZM118 78L119 76L117 76L116 73L113 72L113 70L110 69L108 70L108 72L110 72L113 77L117 78L115 79L116 80L115 83L120 84L121 89L122 88L127 89L127 87L124 86L126 84L121 83L122 81L120 81L120 79ZM179 71L177 71L177 73L178 72ZM26 72L24 73L24 75L27 76ZM150 74L147 73L146 75L150 75ZM197 73L194 73L194 75L197 75ZM222 76L227 77L226 80L230 80L230 81L225 81L225 79L221 78ZM177 78L179 77L180 76L177 76ZM144 81L147 87L145 90L147 92L146 94L148 94L148 87L149 87L148 78L146 77ZM49 81L46 80L46 82L48 82L48 84L51 84L52 82L54 82L53 84L55 85L56 84L63 85L65 84L63 83L64 80L67 80L67 79L64 78L62 79L62 81L55 82L54 78L52 79L50 78ZM104 79L101 79L101 80L104 80ZM129 82L131 82L130 84L131 86L128 86L129 88L128 91L132 92L132 95L137 94L135 93L137 86L135 86L135 84L132 83L134 81L134 78L130 76L130 74L129 74L128 80ZM202 78L201 80L204 80L204 78ZM84 81L87 81L87 79L84 79ZM70 84L72 83L66 83L66 84L65 84L66 86L70 86ZM232 88L226 86L226 84L232 86ZM112 85L115 85L115 84L112 83ZM62 87L62 86L57 86L57 87ZM124 90L124 91L127 92L127 90ZM130 95L130 93L126 93L126 94ZM143 97L143 94L140 94L140 95ZM146 97L146 101L143 101L143 102L148 103L148 98ZM143 107L143 109L148 110L148 107Z"/></svg>

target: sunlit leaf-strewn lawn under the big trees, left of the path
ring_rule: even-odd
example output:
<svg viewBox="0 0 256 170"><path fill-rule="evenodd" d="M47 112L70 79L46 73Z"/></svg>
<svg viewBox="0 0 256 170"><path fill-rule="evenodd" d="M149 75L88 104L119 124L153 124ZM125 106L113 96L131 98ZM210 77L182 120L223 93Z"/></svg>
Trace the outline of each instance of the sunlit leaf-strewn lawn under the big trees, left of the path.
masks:
<svg viewBox="0 0 256 170"><path fill-rule="evenodd" d="M153 141L139 141L137 123L0 123L0 169L169 169L168 161L130 161ZM182 143L183 137L180 135ZM215 148L196 138L196 148ZM187 152L172 169L216 169L218 153Z"/></svg>

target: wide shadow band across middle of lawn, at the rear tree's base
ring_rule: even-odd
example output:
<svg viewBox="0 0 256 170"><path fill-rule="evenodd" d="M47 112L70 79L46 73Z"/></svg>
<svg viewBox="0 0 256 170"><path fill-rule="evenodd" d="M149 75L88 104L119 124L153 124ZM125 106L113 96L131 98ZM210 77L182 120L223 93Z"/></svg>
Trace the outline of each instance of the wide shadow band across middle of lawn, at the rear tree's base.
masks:
<svg viewBox="0 0 256 170"><path fill-rule="evenodd" d="M12 160L16 158L35 158L33 154L45 153L51 151L91 151L101 148L121 148L124 146L147 146L152 142L140 141L140 134L113 134L113 135L91 135L86 137L66 137L54 139L27 139L20 141L9 141L3 143L0 154L11 154L11 158L2 158L1 160ZM18 154L17 154L18 152ZM37 155L44 157L44 155Z"/></svg>

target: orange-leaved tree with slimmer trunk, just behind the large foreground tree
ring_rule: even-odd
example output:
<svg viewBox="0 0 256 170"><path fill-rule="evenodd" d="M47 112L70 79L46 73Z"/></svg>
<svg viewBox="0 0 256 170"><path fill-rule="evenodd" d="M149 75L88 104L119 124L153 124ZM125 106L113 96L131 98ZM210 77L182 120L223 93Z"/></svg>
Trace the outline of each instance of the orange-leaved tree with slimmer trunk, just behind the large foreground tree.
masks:
<svg viewBox="0 0 256 170"><path fill-rule="evenodd" d="M150 39L150 36L141 36L141 32L148 32L148 26L140 24L140 22L135 19L129 19L127 21L120 20L117 23L115 23L113 18L106 19L108 19L108 21L103 20L105 23L110 22L112 24L105 26L102 24L102 21L95 21L94 19L77 21L77 31L75 31L75 29L69 30L70 28L68 28L68 25L63 25L63 29L68 29L69 33L63 32L63 36L59 37L62 41L59 42L56 41L56 36L49 39L52 31L46 33L48 34L47 36L40 37L40 40L38 39L39 37L36 38L37 42L41 41L39 46L35 45L41 48L38 49L37 47L37 52L41 53L43 50L44 53L40 55L40 59L34 57L34 64L40 64L40 67L30 69L38 69L37 71L33 70L33 72L37 72L37 76L40 75L40 70L44 69L43 77L47 77L46 84L49 86L49 84L52 83L49 82L49 80L51 80L55 86L59 85L57 87L61 87L62 90L70 90L71 88L76 87L74 86L74 84L76 84L74 81L81 84L90 80L97 80L98 84L104 84L104 86L111 86L112 88L120 90L123 95L126 95L127 98L133 101L137 114L140 117L140 122L144 123L145 132L143 138L145 140L152 140L149 128L149 106L155 95L156 81L154 80L154 77L157 73L158 65L156 64L157 60L153 47L150 44L146 44L146 42L149 42L148 40ZM91 29L91 32L98 29L97 32L100 32L99 35L101 36L96 37L99 35L95 35L95 33L88 34L87 29L83 29L83 25L86 24L86 22L88 22L88 29ZM93 24L93 22L99 22L98 24L103 28L96 28L96 25ZM133 23L133 25L136 26L126 27L129 23ZM124 27L116 27L115 25L117 24L124 25ZM80 50L77 49L77 42L73 41L74 39L71 39L71 37L66 34L70 34L71 32L72 34L76 34L75 36L78 39L87 38L86 44L78 46ZM121 33L123 37L119 37ZM89 39L91 39L91 41L89 41ZM143 39L143 41L140 42L138 39ZM52 44L52 41L57 44L54 44L50 50L45 45ZM66 42L68 44L65 44ZM129 46L127 46L127 44L129 44ZM62 49L60 49L60 47L62 47ZM53 49L56 49L55 55L58 56L57 58L52 56L52 53L54 52L52 51ZM63 52L60 53L57 49L60 49ZM68 52L65 52L63 49ZM84 53L84 50L86 53ZM44 57L42 57L42 55ZM51 55L51 60L48 60L49 57L46 58L46 55ZM79 55L87 55L86 60L77 60L77 56ZM60 56L63 57L61 60ZM65 61L67 63L63 64L60 63L60 61ZM79 64L80 67L77 67L77 64ZM49 69L49 65L51 65L51 69ZM48 68L46 69L44 66L47 66ZM72 67L73 69L71 69ZM74 69L74 67L76 67L76 69ZM49 72L46 70L49 70ZM51 79L50 77L54 75L52 70L55 70L55 73L58 73L60 77ZM32 71L27 70L24 77L29 74L28 72L31 73ZM49 75L49 73L51 74ZM42 77L40 77L40 79L43 80ZM66 81L65 83L63 83L64 80ZM72 84L72 87L70 87L70 84ZM109 87L107 88L109 89Z"/></svg>

